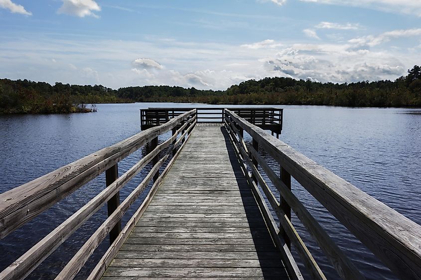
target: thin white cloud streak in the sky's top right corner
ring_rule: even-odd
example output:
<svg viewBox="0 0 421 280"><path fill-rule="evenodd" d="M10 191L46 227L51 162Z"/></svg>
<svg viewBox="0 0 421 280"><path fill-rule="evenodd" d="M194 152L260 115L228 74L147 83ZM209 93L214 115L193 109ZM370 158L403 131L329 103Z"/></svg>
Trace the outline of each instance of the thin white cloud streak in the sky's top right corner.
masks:
<svg viewBox="0 0 421 280"><path fill-rule="evenodd" d="M323 4L345 5L353 7L364 7L375 10L415 14L421 16L420 0L300 0L304 2L315 2Z"/></svg>

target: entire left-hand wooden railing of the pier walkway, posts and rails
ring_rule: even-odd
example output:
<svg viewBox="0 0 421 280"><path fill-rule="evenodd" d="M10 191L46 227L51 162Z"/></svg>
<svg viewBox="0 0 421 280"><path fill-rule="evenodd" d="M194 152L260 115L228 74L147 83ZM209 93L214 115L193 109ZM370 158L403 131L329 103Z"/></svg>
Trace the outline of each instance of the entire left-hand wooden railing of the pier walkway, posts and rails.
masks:
<svg viewBox="0 0 421 280"><path fill-rule="evenodd" d="M56 278L73 279L94 250L110 234L112 245L89 277L90 279L99 279L105 267L111 262L112 257L114 257L115 251L120 248L122 242L127 238L131 229L149 205L157 187L179 155L186 138L190 136L196 122L196 110L186 111L162 125L141 131L115 145L99 150L20 187L1 193L0 239L18 229L101 173L106 173L106 187L2 271L0 273L0 279L24 279L95 212L105 203L108 203L109 217L92 234ZM172 131L172 136L163 143L158 144L158 136L170 130ZM179 137L177 139L178 135ZM119 177L117 164L147 143L150 143L150 152ZM171 154L172 158L170 157ZM149 173L139 186L120 203L119 191L143 170L148 163L152 163ZM167 166L162 174L159 174L160 167L164 163L167 163ZM147 193L146 198L123 230L121 230L121 218L152 180L153 186Z"/></svg>

